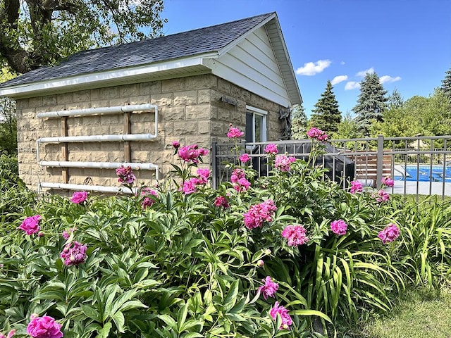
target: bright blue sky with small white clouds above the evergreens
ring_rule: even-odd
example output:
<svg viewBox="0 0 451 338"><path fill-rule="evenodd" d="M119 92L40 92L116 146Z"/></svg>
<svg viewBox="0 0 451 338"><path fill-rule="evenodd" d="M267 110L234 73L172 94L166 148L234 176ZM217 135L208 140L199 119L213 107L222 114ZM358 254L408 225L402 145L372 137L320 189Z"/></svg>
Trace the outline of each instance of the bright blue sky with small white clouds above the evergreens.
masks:
<svg viewBox="0 0 451 338"><path fill-rule="evenodd" d="M451 0L164 0L164 35L277 12L307 115L333 81L342 115L366 71L429 96L451 67Z"/></svg>

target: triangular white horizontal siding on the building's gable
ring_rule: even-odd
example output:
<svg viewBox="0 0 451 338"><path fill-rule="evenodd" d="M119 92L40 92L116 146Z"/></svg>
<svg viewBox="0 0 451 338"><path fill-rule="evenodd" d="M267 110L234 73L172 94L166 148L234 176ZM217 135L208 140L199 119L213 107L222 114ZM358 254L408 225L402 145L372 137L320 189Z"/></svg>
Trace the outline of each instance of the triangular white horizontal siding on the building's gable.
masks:
<svg viewBox="0 0 451 338"><path fill-rule="evenodd" d="M276 56L264 27L243 39L219 58L204 60L214 75L246 88L265 99L290 106Z"/></svg>

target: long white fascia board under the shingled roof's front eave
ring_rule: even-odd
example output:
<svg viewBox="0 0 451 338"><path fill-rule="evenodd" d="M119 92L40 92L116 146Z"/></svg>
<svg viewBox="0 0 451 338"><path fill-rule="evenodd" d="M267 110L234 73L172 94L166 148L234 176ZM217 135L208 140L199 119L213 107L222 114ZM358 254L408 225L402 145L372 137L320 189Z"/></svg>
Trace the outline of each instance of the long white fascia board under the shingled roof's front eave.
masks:
<svg viewBox="0 0 451 338"><path fill-rule="evenodd" d="M46 91L49 89L61 89L74 86L83 86L84 84L101 83L104 81L111 81L113 79L123 80L128 77L138 75L152 74L164 70L174 70L178 68L187 68L194 65L203 65L202 59L209 57L214 58L217 53L202 54L192 58L183 58L175 61L165 61L160 63L152 63L149 65L140 65L132 68L122 68L116 70L107 70L99 73L89 73L84 75L75 75L72 77L63 77L59 79L47 80L43 82L18 84L16 86L5 87L0 89L0 96L24 96L28 93L36 93Z"/></svg>

